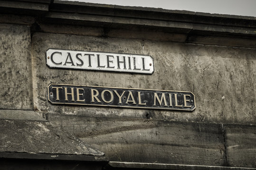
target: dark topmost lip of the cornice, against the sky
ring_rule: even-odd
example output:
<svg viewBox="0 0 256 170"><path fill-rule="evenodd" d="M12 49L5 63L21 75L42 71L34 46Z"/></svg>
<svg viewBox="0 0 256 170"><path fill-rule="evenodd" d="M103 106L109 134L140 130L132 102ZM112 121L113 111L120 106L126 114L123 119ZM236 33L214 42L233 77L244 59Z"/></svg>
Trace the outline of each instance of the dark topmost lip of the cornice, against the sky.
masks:
<svg viewBox="0 0 256 170"><path fill-rule="evenodd" d="M205 23L225 26L255 27L256 17L210 14L186 10L169 10L163 8L129 7L108 4L94 4L85 2L55 0L51 11L85 13L92 15L105 15L113 17L147 18L154 20L180 21L194 24ZM129 11L129 12L128 12ZM207 26L206 25L206 26Z"/></svg>

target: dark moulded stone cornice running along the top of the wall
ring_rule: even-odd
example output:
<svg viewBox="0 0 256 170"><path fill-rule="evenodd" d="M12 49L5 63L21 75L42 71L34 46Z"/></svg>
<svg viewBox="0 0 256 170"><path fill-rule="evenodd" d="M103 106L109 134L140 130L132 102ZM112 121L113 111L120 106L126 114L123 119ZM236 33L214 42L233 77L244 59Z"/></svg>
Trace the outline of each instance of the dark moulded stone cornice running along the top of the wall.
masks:
<svg viewBox="0 0 256 170"><path fill-rule="evenodd" d="M63 33L61 26L69 26L65 34L85 34L83 29L77 30L82 26L102 28L103 34L97 36L103 37L122 37L111 33L121 30L125 34L138 33L134 39L256 48L256 17L64 0L0 0L0 9L5 15L0 17L1 23L33 25L31 32ZM19 21L7 14L34 18L20 17ZM40 27L47 24L57 29ZM149 35L141 37L139 32Z"/></svg>

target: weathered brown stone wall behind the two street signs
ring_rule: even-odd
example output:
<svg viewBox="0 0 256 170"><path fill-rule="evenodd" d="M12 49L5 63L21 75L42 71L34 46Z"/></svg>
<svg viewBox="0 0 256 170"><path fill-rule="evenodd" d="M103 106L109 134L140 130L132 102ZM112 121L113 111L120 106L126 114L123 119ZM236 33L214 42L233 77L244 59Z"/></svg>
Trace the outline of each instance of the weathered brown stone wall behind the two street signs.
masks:
<svg viewBox="0 0 256 170"><path fill-rule="evenodd" d="M255 18L65 1L40 9L0 16L1 119L39 112L109 161L256 167ZM154 73L49 68L49 48L150 55ZM190 91L196 109L51 104L50 84Z"/></svg>

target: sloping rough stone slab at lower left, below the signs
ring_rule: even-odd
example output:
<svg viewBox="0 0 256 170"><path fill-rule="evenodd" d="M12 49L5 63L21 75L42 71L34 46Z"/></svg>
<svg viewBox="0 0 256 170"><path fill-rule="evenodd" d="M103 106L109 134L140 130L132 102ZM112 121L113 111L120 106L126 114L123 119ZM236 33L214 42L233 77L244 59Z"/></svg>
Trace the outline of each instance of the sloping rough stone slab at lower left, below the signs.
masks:
<svg viewBox="0 0 256 170"><path fill-rule="evenodd" d="M104 155L49 122L0 119L0 129L0 152Z"/></svg>

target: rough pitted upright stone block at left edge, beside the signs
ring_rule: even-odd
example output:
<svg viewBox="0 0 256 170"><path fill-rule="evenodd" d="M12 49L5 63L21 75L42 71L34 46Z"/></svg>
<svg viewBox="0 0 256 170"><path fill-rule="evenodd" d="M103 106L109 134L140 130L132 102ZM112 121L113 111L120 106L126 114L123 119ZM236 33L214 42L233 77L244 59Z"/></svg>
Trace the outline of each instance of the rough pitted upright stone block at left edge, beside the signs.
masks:
<svg viewBox="0 0 256 170"><path fill-rule="evenodd" d="M0 24L0 109L33 110L30 29Z"/></svg>

